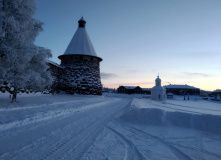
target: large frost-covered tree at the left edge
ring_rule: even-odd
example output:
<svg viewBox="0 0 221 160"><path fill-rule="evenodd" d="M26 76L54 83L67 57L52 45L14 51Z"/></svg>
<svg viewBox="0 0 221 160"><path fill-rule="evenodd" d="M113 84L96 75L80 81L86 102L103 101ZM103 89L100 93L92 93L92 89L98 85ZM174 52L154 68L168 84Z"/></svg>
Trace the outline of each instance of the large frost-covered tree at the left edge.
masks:
<svg viewBox="0 0 221 160"><path fill-rule="evenodd" d="M34 0L1 0L0 14L0 83L11 86L15 97L18 89L43 89L51 84L47 59L49 50L34 44L42 23L33 18Z"/></svg>

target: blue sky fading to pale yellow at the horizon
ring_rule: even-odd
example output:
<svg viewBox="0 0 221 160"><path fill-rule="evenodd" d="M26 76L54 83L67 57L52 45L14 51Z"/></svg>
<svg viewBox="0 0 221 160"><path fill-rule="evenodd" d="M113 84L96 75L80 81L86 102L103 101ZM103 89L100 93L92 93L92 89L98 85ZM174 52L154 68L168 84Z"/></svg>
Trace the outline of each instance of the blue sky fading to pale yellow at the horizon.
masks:
<svg viewBox="0 0 221 160"><path fill-rule="evenodd" d="M64 53L84 16L105 87L221 88L221 0L36 0L36 44Z"/></svg>

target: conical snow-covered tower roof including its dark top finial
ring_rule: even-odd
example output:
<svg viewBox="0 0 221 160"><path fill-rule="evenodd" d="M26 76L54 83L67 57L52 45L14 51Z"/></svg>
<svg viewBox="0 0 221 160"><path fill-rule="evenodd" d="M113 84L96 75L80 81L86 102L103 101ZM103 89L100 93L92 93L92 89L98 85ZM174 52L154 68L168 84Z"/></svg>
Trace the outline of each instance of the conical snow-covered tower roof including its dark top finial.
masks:
<svg viewBox="0 0 221 160"><path fill-rule="evenodd" d="M91 40L85 29L86 21L83 17L78 21L79 27L69 43L64 55L81 54L97 56Z"/></svg>

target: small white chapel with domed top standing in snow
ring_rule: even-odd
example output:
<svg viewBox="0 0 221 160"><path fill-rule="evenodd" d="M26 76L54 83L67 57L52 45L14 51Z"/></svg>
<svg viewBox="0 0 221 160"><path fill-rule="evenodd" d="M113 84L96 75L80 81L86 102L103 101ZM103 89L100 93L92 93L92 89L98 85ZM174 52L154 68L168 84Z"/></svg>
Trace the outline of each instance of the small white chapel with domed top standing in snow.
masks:
<svg viewBox="0 0 221 160"><path fill-rule="evenodd" d="M161 86L161 79L157 76L155 86L151 89L151 99L157 101L166 100L166 90Z"/></svg>

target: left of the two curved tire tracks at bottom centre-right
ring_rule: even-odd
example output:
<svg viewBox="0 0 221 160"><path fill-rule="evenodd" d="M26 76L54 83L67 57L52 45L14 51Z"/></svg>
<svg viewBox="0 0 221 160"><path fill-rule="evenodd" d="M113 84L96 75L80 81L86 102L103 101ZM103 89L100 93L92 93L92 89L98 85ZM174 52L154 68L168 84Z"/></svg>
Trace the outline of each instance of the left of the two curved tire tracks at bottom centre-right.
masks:
<svg viewBox="0 0 221 160"><path fill-rule="evenodd" d="M118 132L117 130L115 130L109 126L107 128L125 142L126 153L124 156L124 160L143 160L143 159L145 159L143 157L143 155L139 152L137 147L130 140L128 140L123 134L121 134L120 132Z"/></svg>

